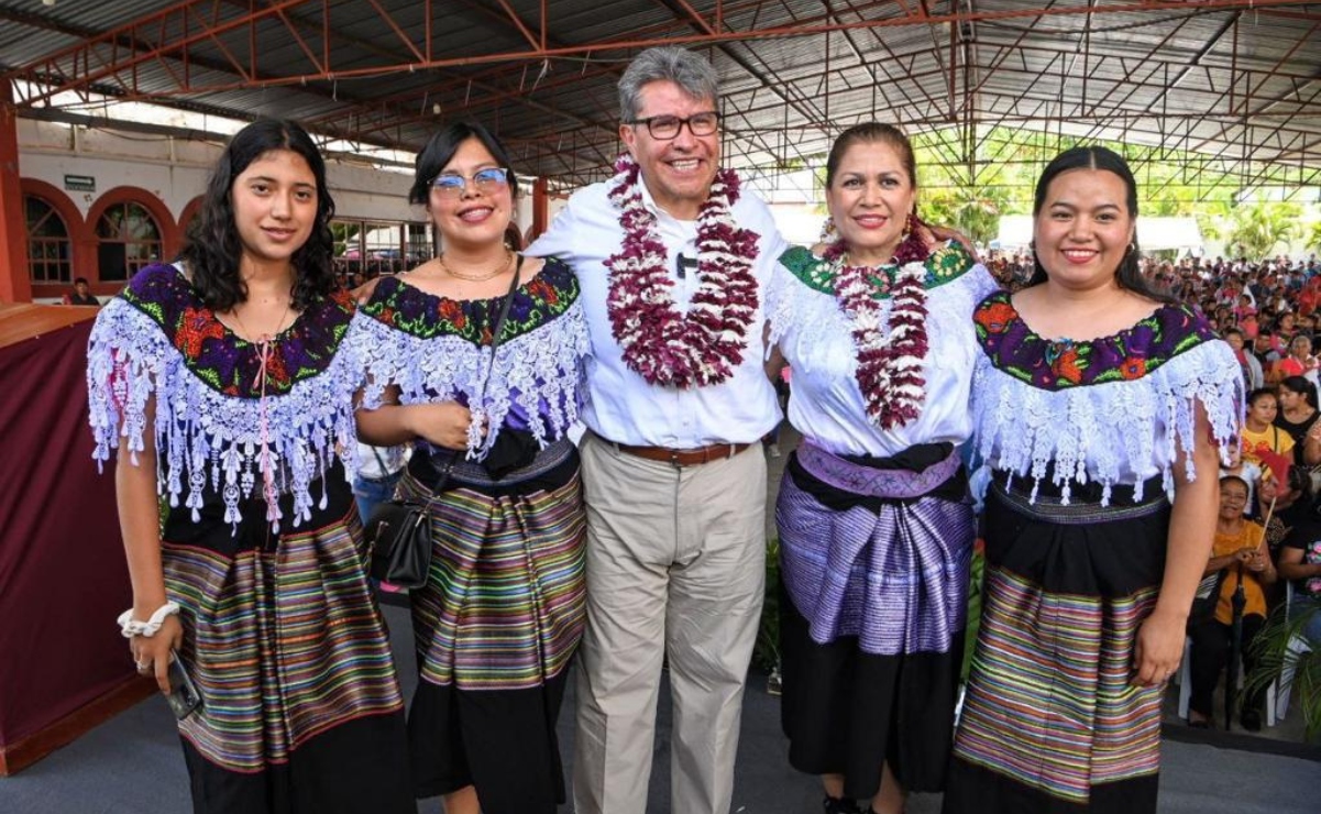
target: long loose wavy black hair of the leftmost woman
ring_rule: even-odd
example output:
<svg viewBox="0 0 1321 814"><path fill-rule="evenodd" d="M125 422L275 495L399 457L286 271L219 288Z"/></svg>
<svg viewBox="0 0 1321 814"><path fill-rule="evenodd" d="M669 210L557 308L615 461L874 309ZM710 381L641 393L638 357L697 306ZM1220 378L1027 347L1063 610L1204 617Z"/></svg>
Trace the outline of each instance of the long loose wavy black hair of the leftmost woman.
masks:
<svg viewBox="0 0 1321 814"><path fill-rule="evenodd" d="M326 165L312 136L296 122L258 119L234 133L202 193L202 207L188 229L180 259L188 264L193 287L213 311L230 311L247 300L247 284L239 276L243 242L234 222L234 181L252 161L273 149L303 156L317 181L317 215L306 242L289 258L295 271L292 307L301 311L334 291L330 258L334 235L330 218L334 200L326 186Z"/></svg>

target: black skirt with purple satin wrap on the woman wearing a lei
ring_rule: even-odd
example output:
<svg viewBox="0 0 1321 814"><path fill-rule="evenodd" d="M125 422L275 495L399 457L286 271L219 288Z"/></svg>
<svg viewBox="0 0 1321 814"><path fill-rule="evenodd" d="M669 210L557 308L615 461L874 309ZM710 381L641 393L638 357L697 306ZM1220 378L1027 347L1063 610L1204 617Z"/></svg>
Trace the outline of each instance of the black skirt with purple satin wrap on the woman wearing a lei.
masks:
<svg viewBox="0 0 1321 814"><path fill-rule="evenodd" d="M914 449L933 455L913 466L888 468L921 470L948 455L941 445ZM851 462L875 465L875 460ZM849 634L820 642L781 584L781 724L790 741L789 762L808 774L843 774L845 797L875 797L884 764L909 792L945 788L974 536L966 494L962 469L922 497L900 500L830 486L803 469L797 456L786 468L777 507L782 577L794 577L793 568L807 560L832 560L839 554L836 534L847 536L864 529L869 539L863 560L868 564L848 566L848 584L890 580L894 591L882 591L875 604L864 607L861 613L872 616L861 630L867 633L867 625L876 624L875 614L905 616L908 636L894 651L864 649L860 637ZM793 551L798 554L790 556ZM898 589L911 588L913 581L922 589ZM857 593L845 589L845 596ZM930 633L937 629L939 636Z"/></svg>

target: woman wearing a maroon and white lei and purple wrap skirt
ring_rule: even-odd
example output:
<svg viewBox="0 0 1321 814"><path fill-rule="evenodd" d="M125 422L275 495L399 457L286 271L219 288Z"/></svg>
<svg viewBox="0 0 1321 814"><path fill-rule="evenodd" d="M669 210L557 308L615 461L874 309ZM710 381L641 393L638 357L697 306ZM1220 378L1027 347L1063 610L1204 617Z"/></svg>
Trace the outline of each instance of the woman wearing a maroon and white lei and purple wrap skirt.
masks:
<svg viewBox="0 0 1321 814"><path fill-rule="evenodd" d="M917 222L901 131L836 139L838 239L782 258L770 341L803 433L779 490L782 719L826 811L897 814L945 782L963 655L972 507L955 447L971 429L972 307L996 288Z"/></svg>

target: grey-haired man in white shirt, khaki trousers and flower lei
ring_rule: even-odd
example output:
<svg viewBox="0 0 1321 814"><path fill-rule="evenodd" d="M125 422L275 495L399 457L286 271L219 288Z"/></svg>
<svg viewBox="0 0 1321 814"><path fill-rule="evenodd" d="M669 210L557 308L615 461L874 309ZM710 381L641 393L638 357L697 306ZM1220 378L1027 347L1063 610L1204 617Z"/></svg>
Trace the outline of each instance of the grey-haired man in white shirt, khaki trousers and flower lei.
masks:
<svg viewBox="0 0 1321 814"><path fill-rule="evenodd" d="M720 170L705 58L641 53L620 107L633 163L576 193L528 248L573 267L593 352L573 802L645 813L668 653L671 810L725 814L765 581L757 441L779 422L760 287L785 243L766 205Z"/></svg>

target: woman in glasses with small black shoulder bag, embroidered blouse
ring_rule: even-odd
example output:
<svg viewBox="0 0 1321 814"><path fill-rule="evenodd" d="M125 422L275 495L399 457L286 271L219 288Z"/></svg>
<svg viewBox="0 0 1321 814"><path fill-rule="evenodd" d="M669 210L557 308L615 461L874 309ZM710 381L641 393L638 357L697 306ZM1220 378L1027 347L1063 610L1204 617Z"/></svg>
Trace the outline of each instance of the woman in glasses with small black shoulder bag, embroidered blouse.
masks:
<svg viewBox="0 0 1321 814"><path fill-rule="evenodd" d="M410 198L444 251L379 279L350 340L370 381L358 428L369 443L415 443L399 489L431 515L429 579L411 595L420 681L408 740L417 796L444 794L449 814L553 814L564 801L555 722L585 618L567 432L587 325L567 266L505 244L517 192L482 126L432 136Z"/></svg>

